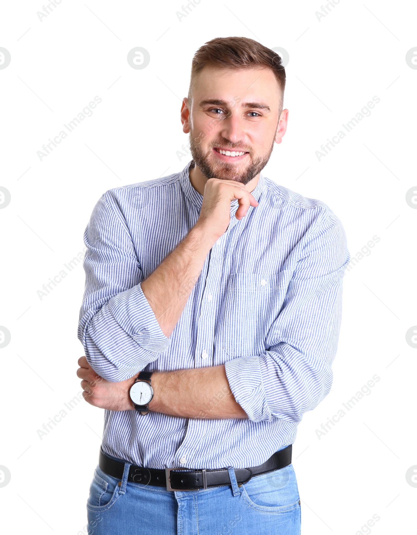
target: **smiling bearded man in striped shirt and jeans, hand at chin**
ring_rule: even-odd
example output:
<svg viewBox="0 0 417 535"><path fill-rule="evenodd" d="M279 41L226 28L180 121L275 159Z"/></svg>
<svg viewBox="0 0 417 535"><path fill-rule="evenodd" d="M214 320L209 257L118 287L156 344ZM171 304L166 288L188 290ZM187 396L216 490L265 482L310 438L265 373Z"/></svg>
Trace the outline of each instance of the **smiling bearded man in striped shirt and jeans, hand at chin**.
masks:
<svg viewBox="0 0 417 535"><path fill-rule="evenodd" d="M291 445L330 390L350 256L325 204L261 173L284 86L258 42L206 43L181 108L191 163L92 212L77 373L106 409L94 533L300 532Z"/></svg>

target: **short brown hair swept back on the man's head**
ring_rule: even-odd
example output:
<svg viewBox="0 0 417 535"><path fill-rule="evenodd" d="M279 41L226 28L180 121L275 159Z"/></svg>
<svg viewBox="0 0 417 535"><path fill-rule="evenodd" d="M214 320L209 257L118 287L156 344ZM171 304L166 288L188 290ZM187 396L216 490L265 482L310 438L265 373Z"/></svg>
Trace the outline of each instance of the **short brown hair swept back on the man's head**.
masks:
<svg viewBox="0 0 417 535"><path fill-rule="evenodd" d="M281 57L273 50L248 37L216 37L203 44L194 54L191 62L191 80L188 100L191 101L192 86L196 75L207 65L222 68L267 67L274 71L281 90L280 114L282 111L285 69Z"/></svg>

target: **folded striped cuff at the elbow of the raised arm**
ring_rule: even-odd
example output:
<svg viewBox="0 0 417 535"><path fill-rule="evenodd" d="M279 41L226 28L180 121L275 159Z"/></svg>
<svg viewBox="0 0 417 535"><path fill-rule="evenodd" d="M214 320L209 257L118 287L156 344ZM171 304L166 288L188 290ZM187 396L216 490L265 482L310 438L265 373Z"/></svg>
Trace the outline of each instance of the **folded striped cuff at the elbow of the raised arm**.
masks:
<svg viewBox="0 0 417 535"><path fill-rule="evenodd" d="M171 343L162 332L140 284L112 297L108 306L121 328L143 349L160 353Z"/></svg>

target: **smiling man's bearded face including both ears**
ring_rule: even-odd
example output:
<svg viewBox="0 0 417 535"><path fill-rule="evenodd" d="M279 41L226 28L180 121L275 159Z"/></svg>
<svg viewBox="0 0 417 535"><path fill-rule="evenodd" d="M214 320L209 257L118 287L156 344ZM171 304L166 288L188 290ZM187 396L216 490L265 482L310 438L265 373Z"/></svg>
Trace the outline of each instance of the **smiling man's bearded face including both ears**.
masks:
<svg viewBox="0 0 417 535"><path fill-rule="evenodd" d="M288 110L279 126L280 98L268 68L210 66L197 75L192 103L184 99L181 118L192 157L206 178L246 185L256 177L285 133Z"/></svg>

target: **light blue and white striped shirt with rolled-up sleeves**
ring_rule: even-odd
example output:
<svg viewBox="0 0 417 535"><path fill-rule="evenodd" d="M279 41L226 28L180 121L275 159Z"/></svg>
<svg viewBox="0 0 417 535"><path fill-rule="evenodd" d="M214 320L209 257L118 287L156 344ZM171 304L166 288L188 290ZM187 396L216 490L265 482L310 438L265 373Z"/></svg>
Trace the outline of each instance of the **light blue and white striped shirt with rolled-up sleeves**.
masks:
<svg viewBox="0 0 417 535"><path fill-rule="evenodd" d="M249 417L208 419L210 406L197 419L106 410L104 452L148 468L256 466L294 442L304 412L330 390L350 254L326 204L261 173L252 192L258 207L239 221L231 202L230 224L198 280L184 281L192 291L167 338L140 283L197 222L203 197L191 186L192 165L97 202L84 234L78 338L110 381L225 364Z"/></svg>

